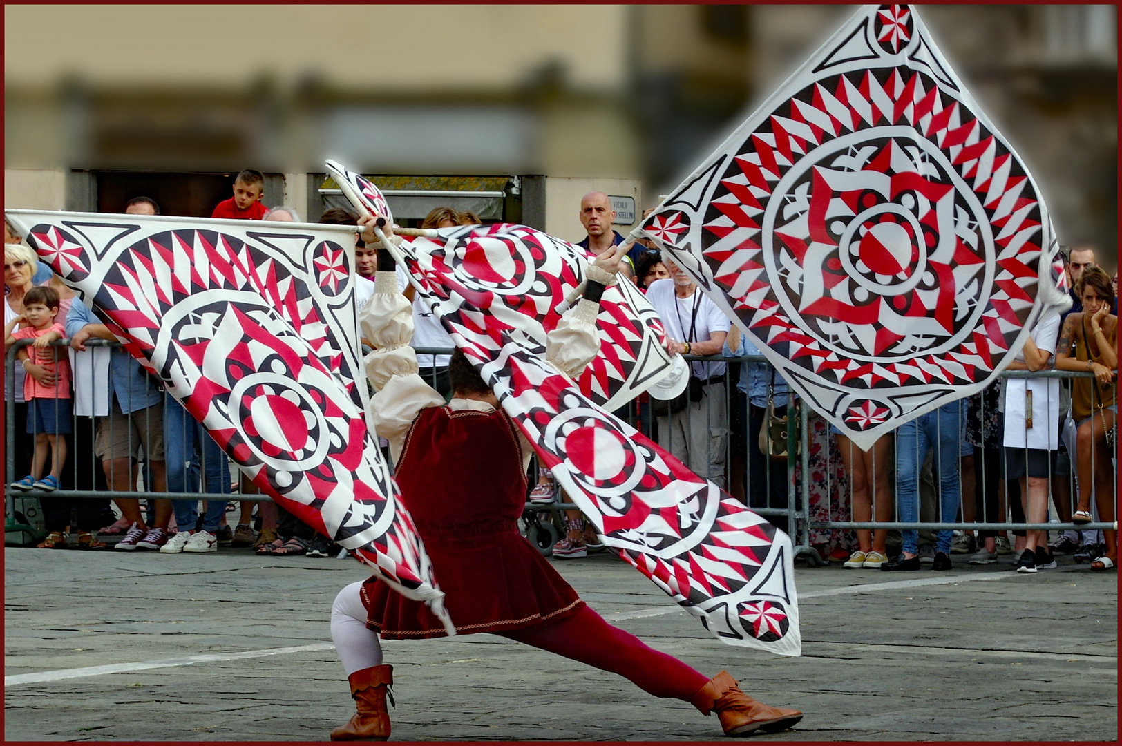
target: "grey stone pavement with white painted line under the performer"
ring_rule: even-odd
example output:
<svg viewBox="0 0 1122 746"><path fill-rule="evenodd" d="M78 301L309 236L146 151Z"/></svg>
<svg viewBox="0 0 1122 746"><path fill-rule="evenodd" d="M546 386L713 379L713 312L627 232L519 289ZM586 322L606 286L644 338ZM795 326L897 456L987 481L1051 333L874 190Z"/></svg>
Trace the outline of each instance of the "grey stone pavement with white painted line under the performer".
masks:
<svg viewBox="0 0 1122 746"><path fill-rule="evenodd" d="M554 562L609 621L806 718L764 740L1116 740L1118 575L1060 558L795 570L803 655L723 645L607 553ZM352 702L349 559L4 550L7 740L324 740ZM717 740L716 718L490 635L384 643L394 740Z"/></svg>

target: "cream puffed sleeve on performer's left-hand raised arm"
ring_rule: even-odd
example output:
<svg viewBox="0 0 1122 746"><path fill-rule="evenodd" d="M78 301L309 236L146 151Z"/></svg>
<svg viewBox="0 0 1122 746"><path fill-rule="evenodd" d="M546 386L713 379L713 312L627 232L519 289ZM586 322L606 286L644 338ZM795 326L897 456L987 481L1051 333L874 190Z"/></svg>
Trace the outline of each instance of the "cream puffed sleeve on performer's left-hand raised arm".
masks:
<svg viewBox="0 0 1122 746"><path fill-rule="evenodd" d="M362 335L375 350L366 356L367 378L377 393L370 397L369 414L375 432L389 441L397 460L410 425L425 407L441 406L444 397L417 374L413 340L413 306L397 289L392 271L375 276L374 295L359 312Z"/></svg>

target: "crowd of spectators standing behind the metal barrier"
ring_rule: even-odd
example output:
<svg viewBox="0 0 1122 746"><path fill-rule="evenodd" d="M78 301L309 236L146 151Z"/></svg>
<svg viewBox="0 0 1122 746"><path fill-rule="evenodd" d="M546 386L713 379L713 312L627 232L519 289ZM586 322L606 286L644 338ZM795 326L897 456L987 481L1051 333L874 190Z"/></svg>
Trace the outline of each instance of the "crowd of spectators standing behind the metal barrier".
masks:
<svg viewBox="0 0 1122 746"><path fill-rule="evenodd" d="M212 217L300 222L293 208L267 209L261 203L259 172L239 174L232 191ZM159 208L141 196L130 201L126 212L159 214ZM582 199L580 219L587 232L581 246L595 254L624 240L611 228L615 213L604 193ZM332 209L321 222L357 224L357 217ZM472 213L438 208L422 228L479 222ZM670 257L645 241L636 242L627 256L628 271L622 274L659 312L671 354L734 360L690 362L687 402L680 409L665 407L655 415L650 397L643 395L615 414L695 472L727 485L735 498L762 509L780 528L791 528L787 518L791 479L795 495L804 489L810 495L806 507L811 523L1114 521L1116 470L1109 439L1118 414L1118 275L1111 278L1097 266L1092 247L1065 254L1073 308L1039 319L1010 369L1085 371L1093 378L997 379L983 392L905 423L867 451L810 411L803 435L809 470L803 473L800 457L790 475L785 461L769 458L760 438L765 420L782 417L794 403L787 381L766 363L735 361L760 350L745 334L735 330L729 334L727 316ZM376 263L375 247L356 238L360 305L373 293ZM43 500L47 536L39 546L203 553L231 544L254 546L260 554L340 552L328 537L269 500L242 500L240 506L204 500L200 510L197 499L126 497L132 491L233 497L255 492L256 487L231 468L204 429L128 353L117 346L88 346L92 339L116 337L44 269L6 224L6 351L16 340L35 340L18 349L13 370L6 371L4 396L13 407L17 433L29 435L9 442L17 470L26 466L28 472L12 481L11 489L44 496L57 489L105 491L117 509L111 512L105 499L47 498ZM413 302L413 344L453 347L432 312L414 297L401 268L398 287ZM68 340L70 350L50 344L62 339ZM422 354L419 361L425 379L450 396L448 356ZM13 387L8 385L10 376ZM67 463L81 467L67 469ZM549 470L539 470L537 477L530 494L535 507L563 497ZM228 512L238 513L232 529ZM101 523L108 525L96 528ZM553 547L558 559L586 556L588 550L603 546L579 510L565 513L564 527L565 535ZM947 570L951 554L969 554L972 564L991 564L1011 554L1017 570L1028 573L1056 567L1055 555L1061 553L1089 562L1095 570L1118 562L1113 531L1065 531L1050 544L1043 531L1012 533L1010 540L1006 532L992 528L812 528L810 540L821 560L847 569ZM120 538L113 544L101 541L109 536Z"/></svg>

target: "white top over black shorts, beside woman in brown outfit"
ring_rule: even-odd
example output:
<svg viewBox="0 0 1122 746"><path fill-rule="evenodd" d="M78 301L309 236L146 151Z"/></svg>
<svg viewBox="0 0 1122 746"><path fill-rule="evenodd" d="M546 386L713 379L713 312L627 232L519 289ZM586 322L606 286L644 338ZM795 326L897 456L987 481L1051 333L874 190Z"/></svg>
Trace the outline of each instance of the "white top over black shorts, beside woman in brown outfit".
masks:
<svg viewBox="0 0 1122 746"><path fill-rule="evenodd" d="M1042 352L1056 354L1059 337L1059 314L1051 313L1038 321L1029 337ZM1024 362L1024 350L1017 353ZM1055 357L1049 368L1055 367ZM1024 416L1029 392L1032 393L1032 427L1026 427ZM1059 380L1056 378L1009 378L1005 380L1005 445L1011 448L1059 448Z"/></svg>

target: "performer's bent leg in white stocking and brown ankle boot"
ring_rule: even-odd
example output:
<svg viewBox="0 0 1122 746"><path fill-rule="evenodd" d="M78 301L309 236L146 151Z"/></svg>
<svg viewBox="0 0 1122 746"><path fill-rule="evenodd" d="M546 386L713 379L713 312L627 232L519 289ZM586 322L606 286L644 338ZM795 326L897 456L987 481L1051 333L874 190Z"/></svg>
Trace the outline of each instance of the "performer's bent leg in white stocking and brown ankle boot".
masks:
<svg viewBox="0 0 1122 746"><path fill-rule="evenodd" d="M331 605L331 639L350 683L357 712L331 731L331 740L386 740L389 713L386 696L394 685L394 669L381 665L378 635L366 626L361 582L347 586ZM393 697L390 697L393 703Z"/></svg>

